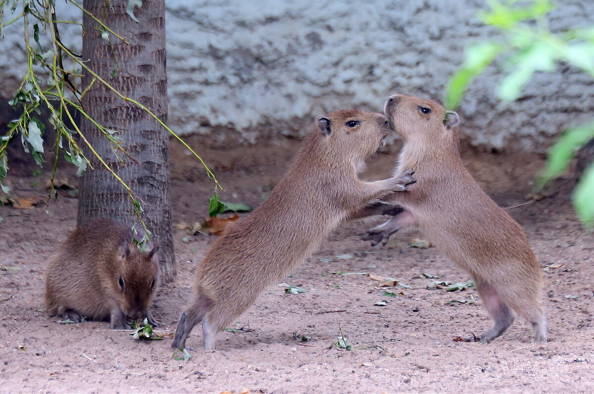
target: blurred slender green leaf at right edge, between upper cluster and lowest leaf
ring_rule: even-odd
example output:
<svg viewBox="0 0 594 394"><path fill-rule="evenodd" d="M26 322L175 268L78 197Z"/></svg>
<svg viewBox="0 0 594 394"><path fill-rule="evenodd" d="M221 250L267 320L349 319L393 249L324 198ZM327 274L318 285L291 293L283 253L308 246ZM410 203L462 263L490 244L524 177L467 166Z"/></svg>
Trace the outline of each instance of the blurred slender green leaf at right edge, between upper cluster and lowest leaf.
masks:
<svg viewBox="0 0 594 394"><path fill-rule="evenodd" d="M593 137L594 122L565 130L551 147L545 168L536 176L535 190L541 191L548 182L560 176L569 166L574 152Z"/></svg>

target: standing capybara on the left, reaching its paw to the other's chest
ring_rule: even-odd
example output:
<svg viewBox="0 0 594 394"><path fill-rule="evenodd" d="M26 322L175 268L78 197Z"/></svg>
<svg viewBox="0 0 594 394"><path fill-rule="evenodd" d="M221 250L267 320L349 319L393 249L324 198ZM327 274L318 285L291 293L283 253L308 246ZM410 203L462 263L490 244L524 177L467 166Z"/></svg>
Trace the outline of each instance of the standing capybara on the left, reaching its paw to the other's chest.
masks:
<svg viewBox="0 0 594 394"><path fill-rule="evenodd" d="M349 128L350 120L360 124ZM202 321L204 347L213 349L216 332L310 256L347 212L390 190L406 190L410 176L378 182L357 176L389 131L378 113L341 110L318 117L318 127L268 199L225 231L198 266L196 295L179 319L172 347L184 348Z"/></svg>

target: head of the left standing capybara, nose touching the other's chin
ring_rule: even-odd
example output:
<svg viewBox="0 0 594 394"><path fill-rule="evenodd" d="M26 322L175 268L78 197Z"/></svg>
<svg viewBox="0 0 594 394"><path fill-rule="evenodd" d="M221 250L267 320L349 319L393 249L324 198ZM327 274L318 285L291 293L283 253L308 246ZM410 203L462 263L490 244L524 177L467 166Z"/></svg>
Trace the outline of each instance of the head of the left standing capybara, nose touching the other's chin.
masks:
<svg viewBox="0 0 594 394"><path fill-rule="evenodd" d="M361 160L374 153L391 131L388 119L381 113L358 109L331 112L316 119L318 130L338 155Z"/></svg>

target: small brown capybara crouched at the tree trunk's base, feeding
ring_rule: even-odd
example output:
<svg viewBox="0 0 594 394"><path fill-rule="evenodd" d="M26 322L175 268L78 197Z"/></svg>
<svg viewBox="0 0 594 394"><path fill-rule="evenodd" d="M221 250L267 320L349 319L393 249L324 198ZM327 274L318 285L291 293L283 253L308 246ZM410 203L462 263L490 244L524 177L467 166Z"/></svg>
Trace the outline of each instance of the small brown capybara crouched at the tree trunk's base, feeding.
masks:
<svg viewBox="0 0 594 394"><path fill-rule="evenodd" d="M110 317L113 329L129 328L127 317L147 317L159 326L150 313L159 281L153 260L156 248L140 253L131 240L129 229L108 219L96 219L72 231L48 260L45 300L50 316L76 322L81 316Z"/></svg>

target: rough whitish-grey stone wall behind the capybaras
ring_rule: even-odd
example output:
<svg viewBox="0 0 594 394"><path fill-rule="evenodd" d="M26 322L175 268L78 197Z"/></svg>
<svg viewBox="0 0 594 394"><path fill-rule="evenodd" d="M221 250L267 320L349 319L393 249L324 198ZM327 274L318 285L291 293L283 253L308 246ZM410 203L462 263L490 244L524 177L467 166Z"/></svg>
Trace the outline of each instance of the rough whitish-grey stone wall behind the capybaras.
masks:
<svg viewBox="0 0 594 394"><path fill-rule="evenodd" d="M494 38L475 18L484 4L168 0L170 123L213 145L253 143L300 136L313 117L340 107L380 111L396 92L441 100L465 47ZM594 25L591 0L558 5L554 30ZM0 42L8 53L0 58L3 96L23 59L22 27L13 30ZM80 35L68 36L80 46ZM551 135L594 117L594 83L576 69L536 75L507 105L495 97L497 81L497 69L489 69L460 107L462 131L474 145L544 151Z"/></svg>

